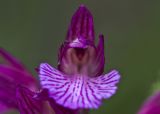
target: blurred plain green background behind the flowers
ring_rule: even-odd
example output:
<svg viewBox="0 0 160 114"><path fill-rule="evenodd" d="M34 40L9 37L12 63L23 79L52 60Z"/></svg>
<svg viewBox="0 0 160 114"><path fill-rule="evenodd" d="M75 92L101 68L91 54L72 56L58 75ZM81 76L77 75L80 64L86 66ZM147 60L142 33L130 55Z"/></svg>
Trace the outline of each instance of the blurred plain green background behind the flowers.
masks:
<svg viewBox="0 0 160 114"><path fill-rule="evenodd" d="M160 77L159 0L1 0L0 47L36 76L41 62L57 65L72 14L83 3L96 36L105 35L105 72L122 75L117 94L91 114L135 114Z"/></svg>

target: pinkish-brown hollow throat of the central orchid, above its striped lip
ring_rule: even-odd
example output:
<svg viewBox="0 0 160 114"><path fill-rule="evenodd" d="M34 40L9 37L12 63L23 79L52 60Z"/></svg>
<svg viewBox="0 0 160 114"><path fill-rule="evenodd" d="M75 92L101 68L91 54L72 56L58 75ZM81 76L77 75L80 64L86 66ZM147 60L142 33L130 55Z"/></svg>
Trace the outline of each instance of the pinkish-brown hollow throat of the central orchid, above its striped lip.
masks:
<svg viewBox="0 0 160 114"><path fill-rule="evenodd" d="M63 72L66 74L89 75L95 59L95 48L69 48L66 53L66 64L63 65Z"/></svg>

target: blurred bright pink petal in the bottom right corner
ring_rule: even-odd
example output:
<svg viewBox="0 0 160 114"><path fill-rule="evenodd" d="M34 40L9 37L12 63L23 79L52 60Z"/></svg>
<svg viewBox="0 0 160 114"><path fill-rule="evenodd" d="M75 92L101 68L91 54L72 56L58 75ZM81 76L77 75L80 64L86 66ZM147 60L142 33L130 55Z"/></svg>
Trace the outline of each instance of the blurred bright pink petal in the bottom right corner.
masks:
<svg viewBox="0 0 160 114"><path fill-rule="evenodd" d="M160 91L150 96L137 114L160 114Z"/></svg>

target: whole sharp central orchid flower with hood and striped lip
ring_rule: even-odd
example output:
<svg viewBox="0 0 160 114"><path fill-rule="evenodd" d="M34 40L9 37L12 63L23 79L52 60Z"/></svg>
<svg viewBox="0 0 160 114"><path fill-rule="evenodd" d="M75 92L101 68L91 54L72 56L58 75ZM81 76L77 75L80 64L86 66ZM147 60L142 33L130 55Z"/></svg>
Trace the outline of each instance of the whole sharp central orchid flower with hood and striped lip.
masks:
<svg viewBox="0 0 160 114"><path fill-rule="evenodd" d="M102 74L105 64L104 37L94 43L93 18L81 5L72 17L66 41L59 51L58 69L40 64L42 88L56 103L70 109L98 108L117 90L117 70Z"/></svg>

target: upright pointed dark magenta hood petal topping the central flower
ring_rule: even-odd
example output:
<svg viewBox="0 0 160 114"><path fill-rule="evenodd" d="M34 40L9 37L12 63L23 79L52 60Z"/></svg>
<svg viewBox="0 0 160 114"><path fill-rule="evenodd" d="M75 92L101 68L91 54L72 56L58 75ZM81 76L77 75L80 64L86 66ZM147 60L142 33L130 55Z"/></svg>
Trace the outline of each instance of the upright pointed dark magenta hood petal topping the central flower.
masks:
<svg viewBox="0 0 160 114"><path fill-rule="evenodd" d="M72 42L77 38L94 41L93 17L84 5L75 12L68 29L67 41Z"/></svg>

